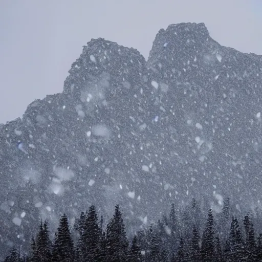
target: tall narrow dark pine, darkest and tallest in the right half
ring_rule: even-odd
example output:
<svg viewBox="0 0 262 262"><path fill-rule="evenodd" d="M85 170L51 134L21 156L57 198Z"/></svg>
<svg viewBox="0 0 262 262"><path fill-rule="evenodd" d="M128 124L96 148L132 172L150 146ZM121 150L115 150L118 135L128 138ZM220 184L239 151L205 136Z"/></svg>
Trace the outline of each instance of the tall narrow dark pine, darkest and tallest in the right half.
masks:
<svg viewBox="0 0 262 262"><path fill-rule="evenodd" d="M203 261L214 260L214 220L211 209L208 211L207 224L203 233L201 256Z"/></svg>

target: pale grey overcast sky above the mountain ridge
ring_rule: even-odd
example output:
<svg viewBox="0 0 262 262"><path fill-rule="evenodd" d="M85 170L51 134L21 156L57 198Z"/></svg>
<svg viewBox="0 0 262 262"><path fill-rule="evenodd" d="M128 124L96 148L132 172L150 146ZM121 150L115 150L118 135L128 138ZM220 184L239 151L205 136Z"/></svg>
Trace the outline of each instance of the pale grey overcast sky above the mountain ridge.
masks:
<svg viewBox="0 0 262 262"><path fill-rule="evenodd" d="M148 57L159 29L204 22L223 46L262 54L262 0L0 0L0 123L60 93L91 38Z"/></svg>

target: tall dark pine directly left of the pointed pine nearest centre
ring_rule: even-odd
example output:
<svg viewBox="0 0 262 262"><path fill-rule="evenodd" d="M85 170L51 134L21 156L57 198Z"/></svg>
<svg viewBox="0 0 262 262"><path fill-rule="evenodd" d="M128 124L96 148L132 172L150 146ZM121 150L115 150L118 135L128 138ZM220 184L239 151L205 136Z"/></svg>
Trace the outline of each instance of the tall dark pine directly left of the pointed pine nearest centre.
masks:
<svg viewBox="0 0 262 262"><path fill-rule="evenodd" d="M89 208L79 239L80 261L98 261L100 256L100 229L95 206Z"/></svg>

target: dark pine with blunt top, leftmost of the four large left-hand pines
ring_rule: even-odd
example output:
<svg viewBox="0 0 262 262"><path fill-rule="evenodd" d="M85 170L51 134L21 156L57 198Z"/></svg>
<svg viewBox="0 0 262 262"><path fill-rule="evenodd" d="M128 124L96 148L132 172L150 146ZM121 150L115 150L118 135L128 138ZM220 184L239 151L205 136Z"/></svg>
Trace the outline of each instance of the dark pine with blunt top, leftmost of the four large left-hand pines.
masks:
<svg viewBox="0 0 262 262"><path fill-rule="evenodd" d="M36 236L36 242L31 244L33 248L32 262L50 262L51 260L51 242L49 238L48 224L40 222L39 231Z"/></svg>

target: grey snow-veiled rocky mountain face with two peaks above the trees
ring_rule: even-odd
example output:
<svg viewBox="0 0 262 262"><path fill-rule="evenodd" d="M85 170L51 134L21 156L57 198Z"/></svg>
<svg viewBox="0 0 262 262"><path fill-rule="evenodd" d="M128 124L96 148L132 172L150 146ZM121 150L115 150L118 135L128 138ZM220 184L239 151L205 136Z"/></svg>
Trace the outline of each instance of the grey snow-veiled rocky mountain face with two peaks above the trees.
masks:
<svg viewBox="0 0 262 262"><path fill-rule="evenodd" d="M61 94L0 126L0 249L91 204L118 203L135 226L192 197L257 205L262 56L187 23L161 29L148 61L92 39L69 73Z"/></svg>

